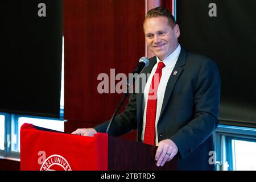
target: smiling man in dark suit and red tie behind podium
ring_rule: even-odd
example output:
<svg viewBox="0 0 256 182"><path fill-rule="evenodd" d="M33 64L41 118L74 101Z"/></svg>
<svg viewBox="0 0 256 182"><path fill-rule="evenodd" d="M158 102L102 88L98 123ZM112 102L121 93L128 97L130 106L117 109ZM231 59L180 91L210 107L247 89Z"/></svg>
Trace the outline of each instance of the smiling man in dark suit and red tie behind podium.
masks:
<svg viewBox="0 0 256 182"><path fill-rule="evenodd" d="M218 126L220 102L216 64L179 45L179 26L169 10L151 9L143 27L147 45L156 56L142 73L151 74L144 92L131 94L109 134L119 136L137 129L138 141L158 146L157 166L177 155L180 170L212 170L209 152L214 150L212 133ZM108 123L73 134L105 132Z"/></svg>

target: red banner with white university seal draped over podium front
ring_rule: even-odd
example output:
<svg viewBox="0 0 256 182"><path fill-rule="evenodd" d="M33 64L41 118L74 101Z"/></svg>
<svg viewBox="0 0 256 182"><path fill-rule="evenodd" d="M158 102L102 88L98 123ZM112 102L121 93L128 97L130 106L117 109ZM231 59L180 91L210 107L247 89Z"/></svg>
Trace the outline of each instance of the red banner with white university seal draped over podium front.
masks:
<svg viewBox="0 0 256 182"><path fill-rule="evenodd" d="M20 170L108 170L108 135L81 137L43 131L24 123L20 129Z"/></svg>

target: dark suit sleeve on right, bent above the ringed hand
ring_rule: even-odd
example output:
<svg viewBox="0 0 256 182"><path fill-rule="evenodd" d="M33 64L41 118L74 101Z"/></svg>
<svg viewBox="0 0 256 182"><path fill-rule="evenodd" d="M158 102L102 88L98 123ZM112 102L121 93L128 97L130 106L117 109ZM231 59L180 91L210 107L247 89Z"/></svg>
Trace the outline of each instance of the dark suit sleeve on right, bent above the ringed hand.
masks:
<svg viewBox="0 0 256 182"><path fill-rule="evenodd" d="M170 137L181 158L195 150L218 126L220 75L213 61L203 61L195 86L193 119Z"/></svg>

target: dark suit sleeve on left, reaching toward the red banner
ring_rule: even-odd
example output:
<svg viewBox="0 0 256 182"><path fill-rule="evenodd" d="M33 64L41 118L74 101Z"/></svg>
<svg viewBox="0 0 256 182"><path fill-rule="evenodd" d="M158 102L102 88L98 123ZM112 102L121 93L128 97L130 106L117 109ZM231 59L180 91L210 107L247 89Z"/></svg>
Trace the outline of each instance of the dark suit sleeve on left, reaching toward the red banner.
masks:
<svg viewBox="0 0 256 182"><path fill-rule="evenodd" d="M119 137L123 134L137 129L137 115L136 115L136 94L131 94L129 103L125 107L125 111L115 117L112 126L109 129L109 134ZM94 127L97 132L105 133L109 125L109 121Z"/></svg>

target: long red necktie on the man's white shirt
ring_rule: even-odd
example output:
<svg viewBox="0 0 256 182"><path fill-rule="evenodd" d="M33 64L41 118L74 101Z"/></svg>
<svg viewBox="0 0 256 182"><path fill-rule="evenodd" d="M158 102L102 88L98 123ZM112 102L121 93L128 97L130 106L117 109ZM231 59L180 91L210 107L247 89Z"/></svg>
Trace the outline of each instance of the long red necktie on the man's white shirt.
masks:
<svg viewBox="0 0 256 182"><path fill-rule="evenodd" d="M155 145L155 117L157 105L158 85L162 76L162 69L165 67L163 61L158 63L158 68L152 77L150 90L147 99L146 127L144 133L144 143Z"/></svg>

